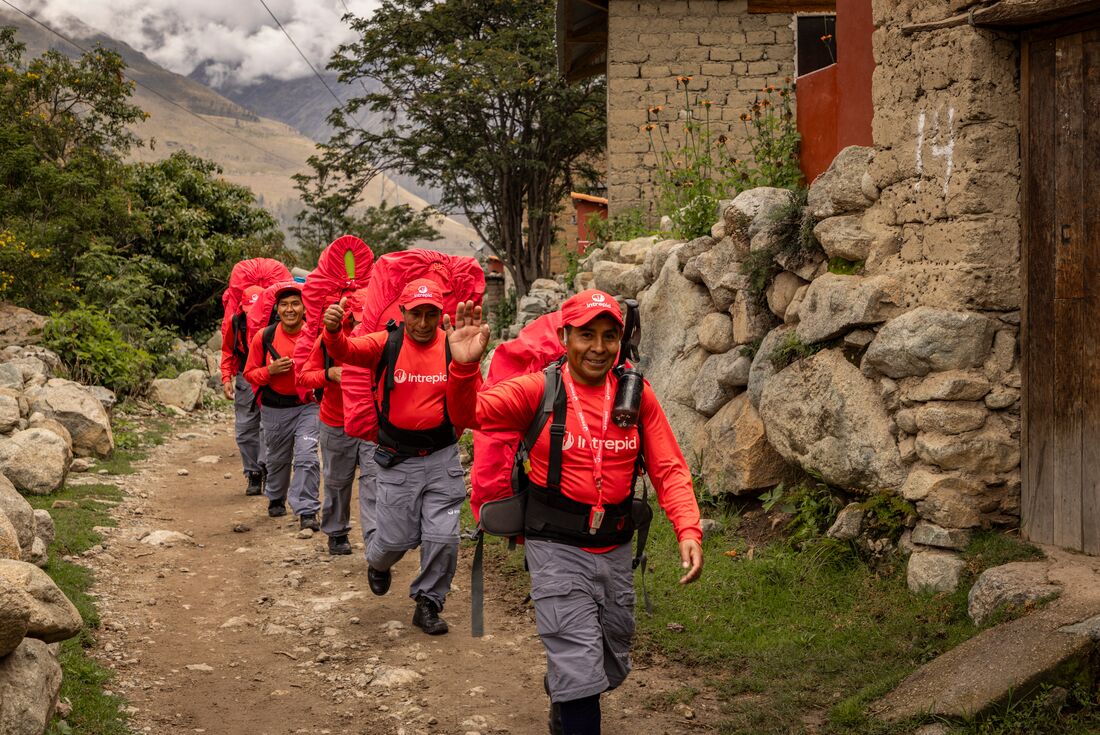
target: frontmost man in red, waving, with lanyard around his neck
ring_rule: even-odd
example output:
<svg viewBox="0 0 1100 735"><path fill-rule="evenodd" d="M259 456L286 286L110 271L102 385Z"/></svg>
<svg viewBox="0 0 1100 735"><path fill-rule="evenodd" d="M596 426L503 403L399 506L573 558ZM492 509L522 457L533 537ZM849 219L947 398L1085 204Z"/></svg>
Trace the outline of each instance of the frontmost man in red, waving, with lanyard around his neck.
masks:
<svg viewBox="0 0 1100 735"><path fill-rule="evenodd" d="M639 451L675 528L686 570L681 584L702 572L703 534L688 463L652 388L642 388L637 428L610 421L618 386L612 368L623 338L615 299L582 292L562 304L561 315L564 431L556 439L548 421L531 448L524 536L536 624L547 650L551 732L598 735L600 694L618 687L630 670L629 508ZM526 431L542 405L546 376L521 375L479 393L488 327L471 303L459 306L455 322L449 338L451 415L483 431Z"/></svg>

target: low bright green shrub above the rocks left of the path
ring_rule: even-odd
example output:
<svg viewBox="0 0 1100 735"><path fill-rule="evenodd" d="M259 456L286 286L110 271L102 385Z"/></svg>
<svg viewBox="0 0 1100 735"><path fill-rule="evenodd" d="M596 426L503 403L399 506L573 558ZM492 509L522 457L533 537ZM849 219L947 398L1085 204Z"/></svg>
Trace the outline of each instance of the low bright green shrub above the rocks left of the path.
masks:
<svg viewBox="0 0 1100 735"><path fill-rule="evenodd" d="M42 341L80 383L106 385L127 395L140 392L152 377L153 358L85 305L53 315Z"/></svg>

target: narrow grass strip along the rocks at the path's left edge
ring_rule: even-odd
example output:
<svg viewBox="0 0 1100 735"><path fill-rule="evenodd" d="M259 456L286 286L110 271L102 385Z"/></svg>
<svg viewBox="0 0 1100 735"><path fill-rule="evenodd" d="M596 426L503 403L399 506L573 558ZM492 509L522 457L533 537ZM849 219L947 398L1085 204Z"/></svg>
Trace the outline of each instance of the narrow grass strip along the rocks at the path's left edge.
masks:
<svg viewBox="0 0 1100 735"><path fill-rule="evenodd" d="M122 711L125 703L121 698L103 693L113 672L86 652L95 645L92 632L100 625L95 601L88 594L94 575L90 570L63 559L79 555L102 540L92 529L114 526L114 519L108 514L110 506L102 501L120 500L122 492L113 485L65 487L51 495L28 497L32 506L48 509L54 518L57 535L50 547L45 571L73 601L84 619L80 635L64 641L58 655L64 671L61 695L72 703L73 710L66 720L55 718L48 735L128 735L131 732ZM56 501L65 504L54 507Z"/></svg>

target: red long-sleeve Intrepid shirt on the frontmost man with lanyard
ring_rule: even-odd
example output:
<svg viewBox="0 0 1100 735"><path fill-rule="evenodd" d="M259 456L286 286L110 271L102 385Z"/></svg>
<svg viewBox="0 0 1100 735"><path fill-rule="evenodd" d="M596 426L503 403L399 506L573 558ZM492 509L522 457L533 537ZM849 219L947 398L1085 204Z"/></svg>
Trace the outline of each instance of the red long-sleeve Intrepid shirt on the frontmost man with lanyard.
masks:
<svg viewBox="0 0 1100 735"><path fill-rule="evenodd" d="M608 373L610 393L615 395L617 379ZM477 363L452 362L447 383L447 407L452 420L482 431L526 431L535 420L542 403L546 387L543 374L535 373L503 381L479 393L482 382ZM600 440L605 404L604 386L575 384L581 408L592 430ZM566 390L565 386L562 390ZM562 451L561 491L568 497L595 505L600 500L594 479L594 457L581 429L572 398L565 415L565 441ZM610 410L610 406L606 407ZM676 538L701 540L698 504L692 491L691 472L676 443L669 419L657 401L653 390L646 384L639 415L641 448L646 456L646 470L657 490L657 500L672 522ZM603 497L605 506L622 503L629 496L635 460L639 450L639 431L622 429L608 423L603 437ZM546 485L550 454L550 423L535 442L530 453L531 482ZM496 500L476 498L479 503ZM474 498L471 498L473 502Z"/></svg>

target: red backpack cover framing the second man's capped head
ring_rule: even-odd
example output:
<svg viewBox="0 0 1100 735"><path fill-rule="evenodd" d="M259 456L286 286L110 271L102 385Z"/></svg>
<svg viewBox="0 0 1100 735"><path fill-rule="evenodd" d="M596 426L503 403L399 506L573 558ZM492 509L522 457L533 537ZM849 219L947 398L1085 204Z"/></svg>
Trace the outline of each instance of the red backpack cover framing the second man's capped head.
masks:
<svg viewBox="0 0 1100 735"><path fill-rule="evenodd" d="M435 250L404 250L386 253L374 264L366 286L360 325L353 334L382 331L391 319L400 321L397 305L406 284L431 278L443 288L443 314L454 318L459 301L481 304L485 295L485 272L469 255L449 255ZM344 365L340 380L344 401L344 431L352 437L374 440L378 417L374 412L374 375L369 368Z"/></svg>

